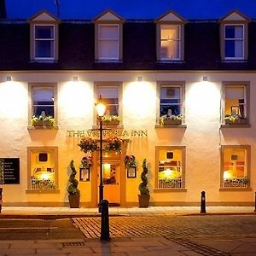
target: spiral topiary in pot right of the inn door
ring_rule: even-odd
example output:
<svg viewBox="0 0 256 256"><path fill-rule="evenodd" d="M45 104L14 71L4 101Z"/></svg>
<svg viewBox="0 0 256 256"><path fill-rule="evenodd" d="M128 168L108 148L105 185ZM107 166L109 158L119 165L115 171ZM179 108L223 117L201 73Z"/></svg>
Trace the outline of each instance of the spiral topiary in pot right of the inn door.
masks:
<svg viewBox="0 0 256 256"><path fill-rule="evenodd" d="M149 205L149 189L148 189L148 165L147 160L143 160L143 172L141 174L142 183L139 184L140 194L138 195L139 207L147 208Z"/></svg>

